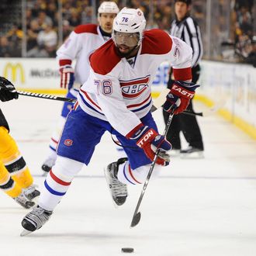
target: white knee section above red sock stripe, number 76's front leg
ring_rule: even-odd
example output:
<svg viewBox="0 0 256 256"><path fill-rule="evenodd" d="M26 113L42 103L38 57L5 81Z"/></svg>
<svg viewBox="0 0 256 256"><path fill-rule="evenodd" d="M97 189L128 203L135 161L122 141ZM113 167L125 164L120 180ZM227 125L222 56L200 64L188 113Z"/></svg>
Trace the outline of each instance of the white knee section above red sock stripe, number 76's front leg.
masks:
<svg viewBox="0 0 256 256"><path fill-rule="evenodd" d="M71 182L75 175L81 171L83 163L67 157L57 156L52 173L64 182Z"/></svg>

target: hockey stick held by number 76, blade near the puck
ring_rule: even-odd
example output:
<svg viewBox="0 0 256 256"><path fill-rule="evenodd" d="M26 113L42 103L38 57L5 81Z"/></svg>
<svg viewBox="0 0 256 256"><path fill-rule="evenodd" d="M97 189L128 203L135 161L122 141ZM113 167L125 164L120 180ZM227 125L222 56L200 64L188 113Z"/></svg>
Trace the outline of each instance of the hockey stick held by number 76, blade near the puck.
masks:
<svg viewBox="0 0 256 256"><path fill-rule="evenodd" d="M164 128L164 134L163 134L164 137L166 137L166 135L168 133L168 130L170 128L171 120L172 120L172 117L174 115L174 113L173 113L174 110L175 109L173 109L173 111L171 112L171 114L170 114L170 116L168 118L168 122L167 122L167 124L166 124L166 126ZM146 181L144 182L143 189L142 189L142 191L140 193L140 198L139 198L139 201L137 202L137 206L136 206L136 209L134 211L133 220L130 223L130 227L135 227L140 222L140 217L141 217L141 213L139 212L140 203L141 203L141 201L142 201L142 199L144 197L144 193L145 193L145 191L147 189L147 184L148 184L148 182L150 180L150 177L151 177L151 174L152 174L152 172L154 170L154 165L156 164L159 151L160 151L159 149L156 151L156 154L154 155L154 160L152 161L152 164L150 165L150 170L148 171L148 175L147 175Z"/></svg>

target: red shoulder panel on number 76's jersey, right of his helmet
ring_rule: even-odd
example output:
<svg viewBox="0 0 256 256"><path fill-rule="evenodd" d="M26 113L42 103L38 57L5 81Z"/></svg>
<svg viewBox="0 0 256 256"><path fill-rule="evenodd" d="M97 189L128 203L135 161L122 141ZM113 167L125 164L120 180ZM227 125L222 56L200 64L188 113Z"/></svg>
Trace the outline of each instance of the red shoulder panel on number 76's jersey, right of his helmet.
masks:
<svg viewBox="0 0 256 256"><path fill-rule="evenodd" d="M141 54L167 54L171 46L171 37L164 30L146 30L142 40Z"/></svg>

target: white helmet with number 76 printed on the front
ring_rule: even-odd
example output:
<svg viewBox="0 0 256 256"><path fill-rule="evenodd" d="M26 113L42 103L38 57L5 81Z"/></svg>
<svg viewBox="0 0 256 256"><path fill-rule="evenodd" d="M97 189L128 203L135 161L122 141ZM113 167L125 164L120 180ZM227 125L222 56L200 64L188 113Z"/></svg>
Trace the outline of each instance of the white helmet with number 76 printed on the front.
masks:
<svg viewBox="0 0 256 256"><path fill-rule="evenodd" d="M113 33L139 33L140 39L137 45L140 45L145 27L146 19L144 13L140 9L129 9L124 7L114 19Z"/></svg>

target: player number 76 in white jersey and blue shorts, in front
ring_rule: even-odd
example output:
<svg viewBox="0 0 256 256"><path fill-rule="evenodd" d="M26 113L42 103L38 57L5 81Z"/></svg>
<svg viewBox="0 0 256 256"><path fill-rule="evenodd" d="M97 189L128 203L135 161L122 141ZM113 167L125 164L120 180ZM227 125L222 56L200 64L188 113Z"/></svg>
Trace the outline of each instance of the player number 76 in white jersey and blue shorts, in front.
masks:
<svg viewBox="0 0 256 256"><path fill-rule="evenodd" d="M38 230L49 220L83 164L88 165L95 146L106 131L116 134L127 158L109 164L106 181L112 199L126 201L127 185L147 178L156 149L152 178L168 165L171 144L157 132L151 115L151 85L157 67L170 61L175 79L164 108L175 114L186 109L199 85L192 78L192 49L161 29L144 31L140 9L122 9L113 23L112 40L90 56L90 74L82 85L78 102L67 116L57 149L57 161L42 188L39 205L22 220L24 234Z"/></svg>

